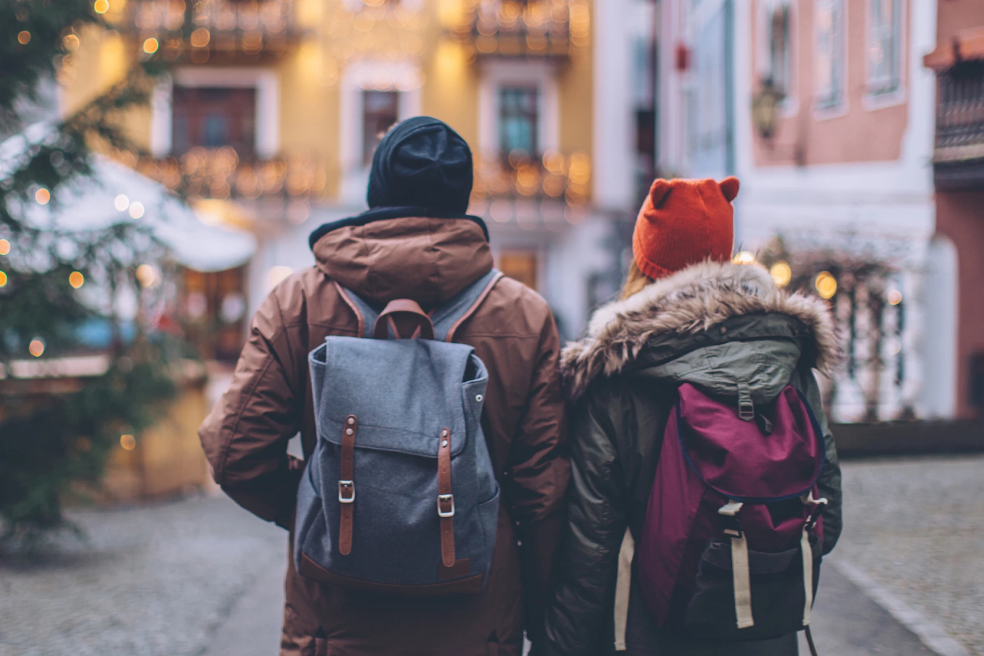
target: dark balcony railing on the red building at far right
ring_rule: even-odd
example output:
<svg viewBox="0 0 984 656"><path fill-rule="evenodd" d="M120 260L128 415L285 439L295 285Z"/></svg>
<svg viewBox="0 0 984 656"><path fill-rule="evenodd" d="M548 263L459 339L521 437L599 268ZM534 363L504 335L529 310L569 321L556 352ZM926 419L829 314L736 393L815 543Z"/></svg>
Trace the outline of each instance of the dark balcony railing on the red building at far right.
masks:
<svg viewBox="0 0 984 656"><path fill-rule="evenodd" d="M938 79L937 186L984 188L984 61L958 63Z"/></svg>

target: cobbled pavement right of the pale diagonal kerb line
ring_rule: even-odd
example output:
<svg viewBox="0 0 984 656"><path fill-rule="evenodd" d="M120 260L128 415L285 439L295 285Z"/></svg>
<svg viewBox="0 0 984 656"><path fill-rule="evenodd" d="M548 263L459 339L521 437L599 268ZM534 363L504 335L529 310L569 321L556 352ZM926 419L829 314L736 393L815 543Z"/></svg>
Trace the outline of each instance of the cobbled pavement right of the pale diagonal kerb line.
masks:
<svg viewBox="0 0 984 656"><path fill-rule="evenodd" d="M984 456L845 462L834 551L984 656Z"/></svg>

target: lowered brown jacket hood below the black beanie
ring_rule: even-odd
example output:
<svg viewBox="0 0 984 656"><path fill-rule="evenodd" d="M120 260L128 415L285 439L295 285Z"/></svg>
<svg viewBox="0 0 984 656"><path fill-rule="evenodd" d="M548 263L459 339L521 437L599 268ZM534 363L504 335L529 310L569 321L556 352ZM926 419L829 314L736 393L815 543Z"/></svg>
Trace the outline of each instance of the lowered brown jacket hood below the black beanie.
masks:
<svg viewBox="0 0 984 656"><path fill-rule="evenodd" d="M450 299L492 268L482 226L468 218L402 216L343 225L312 244L317 266L366 300Z"/></svg>

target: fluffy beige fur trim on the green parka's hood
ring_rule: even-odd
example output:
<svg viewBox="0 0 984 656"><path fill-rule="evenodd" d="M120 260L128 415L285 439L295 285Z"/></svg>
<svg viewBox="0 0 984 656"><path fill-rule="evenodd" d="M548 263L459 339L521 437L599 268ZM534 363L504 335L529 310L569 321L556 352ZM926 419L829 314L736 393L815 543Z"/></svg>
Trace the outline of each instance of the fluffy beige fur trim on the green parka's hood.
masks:
<svg viewBox="0 0 984 656"><path fill-rule="evenodd" d="M823 300L778 289L759 266L705 262L598 308L587 336L561 354L568 393L577 399L597 376L622 371L654 336L693 334L730 317L760 313L790 315L811 328L819 369L827 371L837 360L836 332Z"/></svg>

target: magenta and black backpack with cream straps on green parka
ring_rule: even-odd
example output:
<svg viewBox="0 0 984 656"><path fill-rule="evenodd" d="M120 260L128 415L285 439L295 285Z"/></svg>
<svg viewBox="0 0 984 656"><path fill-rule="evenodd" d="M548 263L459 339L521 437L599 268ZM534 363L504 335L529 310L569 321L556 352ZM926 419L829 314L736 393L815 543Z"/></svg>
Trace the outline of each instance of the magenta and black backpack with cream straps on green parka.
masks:
<svg viewBox="0 0 984 656"><path fill-rule="evenodd" d="M680 386L636 552L656 625L707 639L803 630L820 575L820 425L792 386L740 398Z"/></svg>

